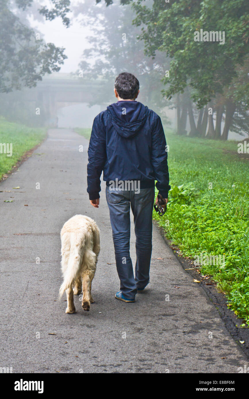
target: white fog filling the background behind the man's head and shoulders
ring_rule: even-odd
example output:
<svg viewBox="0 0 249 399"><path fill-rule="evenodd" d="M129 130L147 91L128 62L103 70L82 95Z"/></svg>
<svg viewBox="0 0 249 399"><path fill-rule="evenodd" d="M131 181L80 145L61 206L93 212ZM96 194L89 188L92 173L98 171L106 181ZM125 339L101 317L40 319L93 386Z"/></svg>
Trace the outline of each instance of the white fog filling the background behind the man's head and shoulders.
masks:
<svg viewBox="0 0 249 399"><path fill-rule="evenodd" d="M167 70L170 70L173 58L163 51L156 50L154 57L146 53L145 42L137 39L145 25L135 26L132 23L136 14L131 5L114 2L107 7L104 1L96 4L92 0L73 0L70 11L65 13L66 17L58 15L51 20L46 20L39 12L41 5L46 5L48 10L51 8L49 1L32 2L25 10L17 8L14 1L10 6L10 12L30 32L29 42L26 42L25 36L21 36L20 40L23 40L22 43L27 46L28 51L30 46L37 46L37 53L31 57L32 65L30 58L25 59L23 56L20 59L21 68L16 72L16 69L12 71L11 55L3 52L6 58L10 58L6 62L10 68L8 71L3 65L0 92L0 113L7 120L48 128L90 128L96 114L116 101L113 93L115 77L122 71L129 71L140 82L137 101L157 112L166 128L179 134L206 134L211 138L210 126L212 130L222 103L223 113L219 128L221 132L224 130L227 110L224 95L217 94L209 102L206 101L203 108L203 105L199 106L193 99L195 90L190 86L187 91L184 89L184 93L179 91L171 96L161 93L169 88L169 84L165 84L163 80ZM145 5L150 9L152 2L145 1ZM68 22L64 18L69 18ZM15 40L11 26L2 35L7 41ZM39 60L38 53L49 43L60 54L55 56L55 53L52 55L50 52ZM18 51L19 44L16 46ZM33 70L31 75L29 69ZM50 73L44 73L48 69ZM229 122L228 139L240 140L243 136L247 137L248 109L241 104L235 107L234 120ZM208 123L202 116L205 107L212 109L213 113L212 119L208 118ZM40 112L38 116L37 109ZM196 125L194 130L198 120L202 119L204 133L193 133L191 115Z"/></svg>

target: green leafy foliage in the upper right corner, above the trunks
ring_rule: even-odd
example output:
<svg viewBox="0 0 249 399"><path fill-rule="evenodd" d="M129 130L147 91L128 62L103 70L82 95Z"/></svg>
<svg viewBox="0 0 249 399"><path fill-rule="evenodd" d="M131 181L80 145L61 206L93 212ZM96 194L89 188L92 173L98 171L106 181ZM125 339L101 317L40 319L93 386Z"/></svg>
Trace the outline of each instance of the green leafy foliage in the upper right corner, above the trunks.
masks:
<svg viewBox="0 0 249 399"><path fill-rule="evenodd" d="M183 93L189 84L201 108L238 76L237 65L249 53L248 0L154 0L152 7L137 0L132 6L145 53L154 56L159 50L172 59L169 77L163 79L169 84L167 98ZM225 44L194 41L194 32L201 29L225 32Z"/></svg>

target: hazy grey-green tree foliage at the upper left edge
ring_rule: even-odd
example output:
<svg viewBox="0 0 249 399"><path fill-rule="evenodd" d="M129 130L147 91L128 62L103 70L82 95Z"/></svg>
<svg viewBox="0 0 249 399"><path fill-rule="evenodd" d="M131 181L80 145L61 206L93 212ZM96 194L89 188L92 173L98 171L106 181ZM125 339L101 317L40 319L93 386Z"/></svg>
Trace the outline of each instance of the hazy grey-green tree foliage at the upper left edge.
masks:
<svg viewBox="0 0 249 399"><path fill-rule="evenodd" d="M32 0L16 0L18 9L26 10ZM56 2L54 8L41 8L40 14L52 20L60 16L69 26L66 14L69 0ZM13 8L13 9L12 9ZM17 9L17 10L18 10ZM22 87L34 87L46 73L57 72L67 56L64 48L45 43L34 31L24 24L9 0L0 0L0 92L8 93Z"/></svg>

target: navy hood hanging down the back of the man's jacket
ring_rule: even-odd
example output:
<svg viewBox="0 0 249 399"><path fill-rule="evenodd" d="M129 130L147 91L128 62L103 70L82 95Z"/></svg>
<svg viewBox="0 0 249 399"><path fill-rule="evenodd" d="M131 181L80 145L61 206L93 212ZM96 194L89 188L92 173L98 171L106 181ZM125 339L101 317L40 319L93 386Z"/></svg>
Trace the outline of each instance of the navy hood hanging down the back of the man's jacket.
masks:
<svg viewBox="0 0 249 399"><path fill-rule="evenodd" d="M118 101L107 107L115 130L125 138L133 137L145 123L147 109L138 101Z"/></svg>

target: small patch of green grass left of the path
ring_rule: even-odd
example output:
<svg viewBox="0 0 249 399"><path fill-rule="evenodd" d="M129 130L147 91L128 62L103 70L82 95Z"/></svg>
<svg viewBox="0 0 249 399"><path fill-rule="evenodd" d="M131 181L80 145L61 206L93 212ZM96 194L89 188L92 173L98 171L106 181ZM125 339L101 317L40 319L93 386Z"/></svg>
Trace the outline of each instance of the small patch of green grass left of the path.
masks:
<svg viewBox="0 0 249 399"><path fill-rule="evenodd" d="M26 151L39 144L45 136L46 130L43 128L30 128L0 117L0 143L12 143L12 156L0 153L0 179L12 169Z"/></svg>

